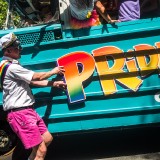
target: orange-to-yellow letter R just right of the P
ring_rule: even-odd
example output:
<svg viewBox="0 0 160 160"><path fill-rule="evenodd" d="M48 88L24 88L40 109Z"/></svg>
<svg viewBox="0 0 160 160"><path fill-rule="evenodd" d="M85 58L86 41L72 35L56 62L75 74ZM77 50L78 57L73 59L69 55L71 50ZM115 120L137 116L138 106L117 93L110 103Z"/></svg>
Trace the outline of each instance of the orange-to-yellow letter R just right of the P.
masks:
<svg viewBox="0 0 160 160"><path fill-rule="evenodd" d="M102 90L105 95L113 94L117 91L115 81L120 82L133 91L136 91L142 83L141 79L132 76L131 73L123 71L126 58L124 57L123 51L119 48L114 46L98 48L93 50L93 56L95 58ZM111 67L107 61L108 57L112 57L113 59L113 65Z"/></svg>

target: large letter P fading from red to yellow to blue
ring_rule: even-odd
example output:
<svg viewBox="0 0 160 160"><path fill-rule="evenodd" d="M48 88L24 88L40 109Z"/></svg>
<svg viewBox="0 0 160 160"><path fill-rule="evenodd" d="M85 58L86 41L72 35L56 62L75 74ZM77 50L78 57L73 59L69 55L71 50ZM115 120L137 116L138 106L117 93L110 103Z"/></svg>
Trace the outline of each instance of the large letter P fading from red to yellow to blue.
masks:
<svg viewBox="0 0 160 160"><path fill-rule="evenodd" d="M93 57L86 52L77 51L64 55L57 62L59 66L65 68L64 79L67 84L69 103L84 101L86 96L82 83L89 79L94 72Z"/></svg>

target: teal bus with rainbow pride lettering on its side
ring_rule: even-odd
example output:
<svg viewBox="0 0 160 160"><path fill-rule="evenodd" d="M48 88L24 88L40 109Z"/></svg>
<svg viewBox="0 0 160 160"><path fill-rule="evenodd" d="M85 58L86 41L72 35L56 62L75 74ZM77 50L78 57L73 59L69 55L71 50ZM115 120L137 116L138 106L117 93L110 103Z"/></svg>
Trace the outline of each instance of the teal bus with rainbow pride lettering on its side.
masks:
<svg viewBox="0 0 160 160"><path fill-rule="evenodd" d="M66 91L32 87L35 109L49 131L61 135L159 125L159 10L139 20L73 30L69 2L56 2L50 3L58 17L53 22L0 31L0 37L18 36L24 67L35 72L65 68L63 77L51 79L64 79ZM14 6L22 14L18 1ZM0 94L1 139L11 141ZM0 142L2 150L8 151L8 141Z"/></svg>

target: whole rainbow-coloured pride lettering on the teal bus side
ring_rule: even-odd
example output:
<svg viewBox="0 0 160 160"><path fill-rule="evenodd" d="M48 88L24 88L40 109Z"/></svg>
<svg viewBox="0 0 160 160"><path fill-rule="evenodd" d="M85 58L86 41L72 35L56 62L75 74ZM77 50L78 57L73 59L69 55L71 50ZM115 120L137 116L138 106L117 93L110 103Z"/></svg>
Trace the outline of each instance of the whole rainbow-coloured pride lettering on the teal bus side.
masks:
<svg viewBox="0 0 160 160"><path fill-rule="evenodd" d="M64 78L70 103L86 99L82 83L89 79L96 66L104 95L117 92L116 83L136 92L143 80L160 67L160 42L155 47L148 44L133 46L124 51L115 46L103 46L92 50L92 55L76 51L60 57L57 62L64 66ZM110 65L112 59L113 64ZM140 76L139 74L140 73Z"/></svg>

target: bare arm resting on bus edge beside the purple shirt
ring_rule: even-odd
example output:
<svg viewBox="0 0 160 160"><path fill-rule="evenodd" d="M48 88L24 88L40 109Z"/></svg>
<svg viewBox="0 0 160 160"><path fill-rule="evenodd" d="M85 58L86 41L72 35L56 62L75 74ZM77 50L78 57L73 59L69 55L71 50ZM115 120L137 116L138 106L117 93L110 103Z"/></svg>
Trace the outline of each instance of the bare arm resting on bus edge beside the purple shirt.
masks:
<svg viewBox="0 0 160 160"><path fill-rule="evenodd" d="M108 23L115 23L119 22L118 20L112 20L110 15L107 13L104 5L100 1L95 2L95 7L98 13L108 22Z"/></svg>

